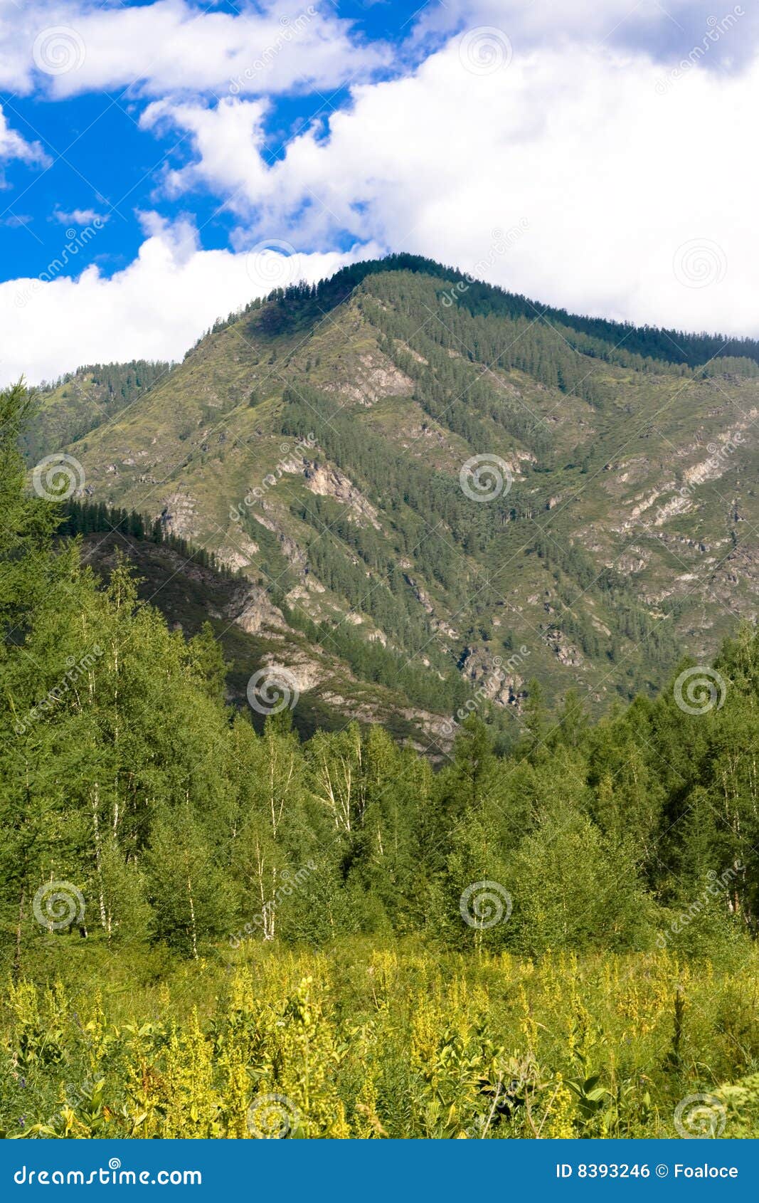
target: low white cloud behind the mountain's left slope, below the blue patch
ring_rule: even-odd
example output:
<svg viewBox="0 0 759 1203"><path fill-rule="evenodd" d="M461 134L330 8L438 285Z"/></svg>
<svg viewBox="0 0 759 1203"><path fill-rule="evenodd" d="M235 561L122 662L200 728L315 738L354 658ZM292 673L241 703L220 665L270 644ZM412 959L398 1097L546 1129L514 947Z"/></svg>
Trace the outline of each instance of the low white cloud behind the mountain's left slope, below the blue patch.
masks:
<svg viewBox="0 0 759 1203"><path fill-rule="evenodd" d="M201 250L189 221L170 225L155 214L142 220L148 237L138 257L111 279L95 266L71 278L48 265L46 283L0 284L0 385L22 374L38 384L79 363L182 358L218 316L278 284L332 275L356 257ZM93 239L77 254L95 249Z"/></svg>

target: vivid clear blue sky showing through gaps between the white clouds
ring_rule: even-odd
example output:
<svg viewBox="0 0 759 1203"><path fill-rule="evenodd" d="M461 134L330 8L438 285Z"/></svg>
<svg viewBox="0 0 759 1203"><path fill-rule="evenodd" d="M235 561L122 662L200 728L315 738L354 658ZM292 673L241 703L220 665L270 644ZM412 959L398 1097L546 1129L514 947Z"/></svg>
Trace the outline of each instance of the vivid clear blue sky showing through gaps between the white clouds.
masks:
<svg viewBox="0 0 759 1203"><path fill-rule="evenodd" d="M149 8L152 4L150 0L124 0L118 7ZM245 5L203 2L188 7L236 17ZM291 13L295 20L307 7L296 2L283 11ZM322 7L350 22L355 42L366 40L401 47L405 61L413 61L421 53L417 47L407 46L416 25L419 5L403 5L396 0L363 4L349 0ZM432 35L427 45L434 40L439 41L439 37ZM397 65L393 69L389 64L386 70L372 71L370 75L372 78L387 77L393 70ZM345 82L351 73L352 65L346 58ZM358 75L362 77L363 72ZM278 96L266 120L267 153L281 156L289 138L302 123L324 120L345 105L349 101L345 82L336 81L334 85L319 93L298 94L296 88ZM11 161L5 167L6 188L0 195L2 279L26 273L36 275L51 255L58 254L61 223L57 213L91 209L108 215L108 229L97 239L96 248L93 247L91 255L91 261L103 274L109 275L134 260L143 241L136 211L155 208L153 192L160 172L167 165L183 165L191 158L191 147L179 134L155 137L140 130L138 118L144 109L140 90L136 82L132 87L85 91L63 101L51 100L42 89L28 95L0 93L8 123L26 141L38 142L53 160L52 167L45 172L19 161ZM213 93L206 90L206 95L215 100ZM203 245L229 245L235 223L221 208L220 198L196 194L190 207L203 229ZM164 196L159 208L166 217L176 217L186 209L186 205ZM77 223L67 225L76 229ZM81 263L72 265L69 274L79 269Z"/></svg>

